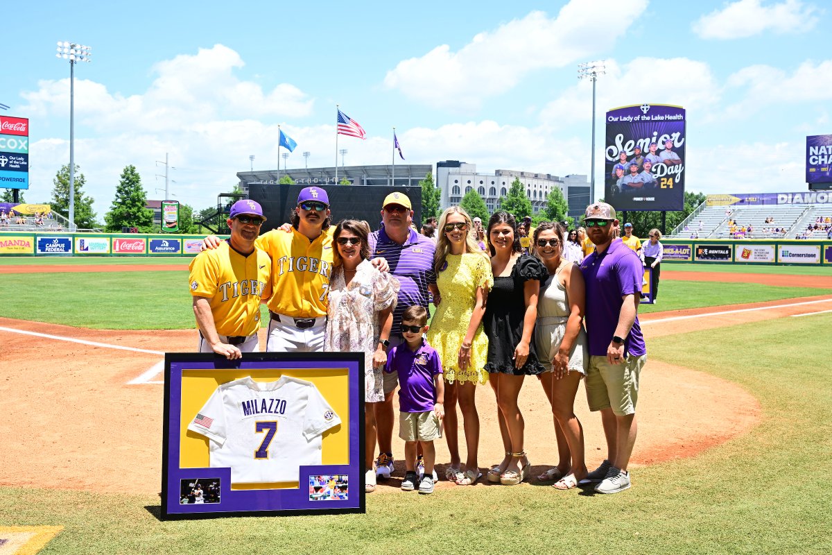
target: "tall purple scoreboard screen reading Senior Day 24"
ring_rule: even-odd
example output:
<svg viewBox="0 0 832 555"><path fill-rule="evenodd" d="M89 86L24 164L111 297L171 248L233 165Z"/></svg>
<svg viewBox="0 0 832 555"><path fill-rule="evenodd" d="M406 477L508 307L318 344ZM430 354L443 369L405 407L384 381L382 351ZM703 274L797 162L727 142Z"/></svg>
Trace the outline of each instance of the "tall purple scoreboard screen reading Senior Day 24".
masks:
<svg viewBox="0 0 832 555"><path fill-rule="evenodd" d="M607 111L604 199L618 211L685 205L685 109L641 104Z"/></svg>

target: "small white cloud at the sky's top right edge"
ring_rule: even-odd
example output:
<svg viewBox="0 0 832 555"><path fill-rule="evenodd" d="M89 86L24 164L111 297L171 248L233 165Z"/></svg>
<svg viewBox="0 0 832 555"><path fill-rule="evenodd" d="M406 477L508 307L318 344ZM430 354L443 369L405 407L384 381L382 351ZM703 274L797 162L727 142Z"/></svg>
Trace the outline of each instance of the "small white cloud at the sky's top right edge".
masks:
<svg viewBox="0 0 832 555"><path fill-rule="evenodd" d="M818 22L817 8L800 0L763 6L761 0L731 2L699 18L693 32L706 39L745 38L772 31L780 34L804 32Z"/></svg>

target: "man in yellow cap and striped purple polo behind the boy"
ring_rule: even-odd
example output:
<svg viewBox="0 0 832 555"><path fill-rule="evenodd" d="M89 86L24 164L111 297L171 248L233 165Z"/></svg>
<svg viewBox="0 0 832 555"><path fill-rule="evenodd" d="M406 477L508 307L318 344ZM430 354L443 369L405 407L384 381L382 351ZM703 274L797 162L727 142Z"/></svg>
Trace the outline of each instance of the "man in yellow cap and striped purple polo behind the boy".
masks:
<svg viewBox="0 0 832 555"><path fill-rule="evenodd" d="M410 229L414 211L410 199L404 193L390 193L384 198L381 210L382 227L369 235L370 258L384 258L390 273L399 280L399 300L393 312L393 329L390 330L389 349L403 341L402 314L410 306L428 309L429 295L435 304L439 302L436 275L433 274L433 241ZM384 402L374 403L375 421L378 426L379 457L376 458L376 475L389 478L393 471L393 427L395 414L393 397L399 384L397 374L384 374Z"/></svg>

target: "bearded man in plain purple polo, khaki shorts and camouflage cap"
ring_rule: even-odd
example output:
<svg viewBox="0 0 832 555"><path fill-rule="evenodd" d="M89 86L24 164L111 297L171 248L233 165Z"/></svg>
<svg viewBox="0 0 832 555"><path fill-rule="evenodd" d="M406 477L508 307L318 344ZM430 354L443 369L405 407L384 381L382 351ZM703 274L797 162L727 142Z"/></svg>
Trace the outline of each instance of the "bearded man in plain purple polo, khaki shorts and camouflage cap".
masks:
<svg viewBox="0 0 832 555"><path fill-rule="evenodd" d="M607 438L607 459L587 474L586 481L600 482L598 493L618 493L630 488L626 468L636 443L638 382L647 359L638 324L644 267L638 255L615 238L618 220L612 206L587 206L584 226L595 244L595 252L581 264L590 354L585 385L589 409L601 411Z"/></svg>

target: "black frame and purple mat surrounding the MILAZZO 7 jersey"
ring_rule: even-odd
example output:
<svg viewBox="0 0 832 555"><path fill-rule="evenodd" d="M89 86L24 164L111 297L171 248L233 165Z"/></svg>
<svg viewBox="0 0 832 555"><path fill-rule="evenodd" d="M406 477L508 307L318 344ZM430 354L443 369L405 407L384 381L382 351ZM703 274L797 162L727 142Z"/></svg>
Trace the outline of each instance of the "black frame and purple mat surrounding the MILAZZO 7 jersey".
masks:
<svg viewBox="0 0 832 555"><path fill-rule="evenodd" d="M349 464L300 467L298 489L231 489L230 468L180 468L182 376L188 370L310 369L347 370L349 388ZM167 353L161 466L162 520L240 516L364 513L364 354L363 353L244 353L227 360L216 354ZM310 499L308 476L349 477L349 498ZM305 478L306 477L306 478ZM181 503L184 480L219 478L219 503Z"/></svg>

